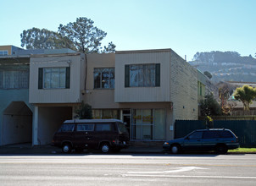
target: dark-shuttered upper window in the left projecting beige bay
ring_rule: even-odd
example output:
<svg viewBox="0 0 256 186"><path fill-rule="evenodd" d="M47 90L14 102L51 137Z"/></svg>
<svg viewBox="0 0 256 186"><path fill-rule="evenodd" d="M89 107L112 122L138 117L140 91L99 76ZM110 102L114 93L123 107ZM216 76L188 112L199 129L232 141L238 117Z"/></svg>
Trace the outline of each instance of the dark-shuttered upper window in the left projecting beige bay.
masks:
<svg viewBox="0 0 256 186"><path fill-rule="evenodd" d="M67 68L39 68L39 89L70 88L70 67Z"/></svg>

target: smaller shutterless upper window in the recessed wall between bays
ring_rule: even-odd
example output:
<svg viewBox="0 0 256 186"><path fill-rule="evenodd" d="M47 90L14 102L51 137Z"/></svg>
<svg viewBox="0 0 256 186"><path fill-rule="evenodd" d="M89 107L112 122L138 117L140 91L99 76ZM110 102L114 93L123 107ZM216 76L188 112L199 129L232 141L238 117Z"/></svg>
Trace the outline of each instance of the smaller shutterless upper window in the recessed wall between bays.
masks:
<svg viewBox="0 0 256 186"><path fill-rule="evenodd" d="M94 68L94 89L114 89L114 68Z"/></svg>

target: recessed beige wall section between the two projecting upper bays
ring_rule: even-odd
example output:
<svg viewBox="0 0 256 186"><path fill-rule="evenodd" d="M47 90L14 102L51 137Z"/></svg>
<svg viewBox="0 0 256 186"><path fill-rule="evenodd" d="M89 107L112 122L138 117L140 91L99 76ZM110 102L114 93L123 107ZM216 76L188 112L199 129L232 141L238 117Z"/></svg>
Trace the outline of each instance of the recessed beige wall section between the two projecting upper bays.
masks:
<svg viewBox="0 0 256 186"><path fill-rule="evenodd" d="M114 53L87 55L87 70L84 72L84 74L87 74L86 90L84 91L83 100L94 109L119 107L119 105L114 102L114 89L94 89L94 68L114 68L114 64Z"/></svg>

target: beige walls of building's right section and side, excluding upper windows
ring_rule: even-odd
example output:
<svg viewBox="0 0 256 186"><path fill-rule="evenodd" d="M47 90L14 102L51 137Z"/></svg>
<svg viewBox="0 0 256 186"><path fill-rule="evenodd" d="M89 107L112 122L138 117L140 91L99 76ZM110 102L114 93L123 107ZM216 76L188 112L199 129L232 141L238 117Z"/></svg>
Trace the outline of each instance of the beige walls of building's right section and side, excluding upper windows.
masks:
<svg viewBox="0 0 256 186"><path fill-rule="evenodd" d="M159 63L160 85L158 87L125 87L125 65L148 63ZM94 88L96 68L114 68L113 89ZM132 134L136 130L137 123L137 121L134 123L134 118L142 117L135 112L148 114L151 111L155 114L161 111L164 130L160 131L163 133L163 140L174 138L175 119L198 119L198 72L171 49L89 54L86 74L83 101L90 104L93 111L118 111L118 118L121 120L125 120L128 116L131 140L133 138L136 140L137 137ZM154 115L152 116L154 118ZM158 127L155 120L151 123L153 128ZM148 136L149 130L147 129L144 136ZM152 129L151 134L154 135L154 133Z"/></svg>

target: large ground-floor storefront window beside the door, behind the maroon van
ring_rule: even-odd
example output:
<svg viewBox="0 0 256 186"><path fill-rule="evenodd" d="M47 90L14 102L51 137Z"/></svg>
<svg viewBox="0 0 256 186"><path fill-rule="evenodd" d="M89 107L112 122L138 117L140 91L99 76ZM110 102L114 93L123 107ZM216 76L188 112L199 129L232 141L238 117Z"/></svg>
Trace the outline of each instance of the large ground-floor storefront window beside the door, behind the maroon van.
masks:
<svg viewBox="0 0 256 186"><path fill-rule="evenodd" d="M165 138L164 109L133 109L131 139L163 140Z"/></svg>

